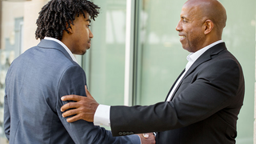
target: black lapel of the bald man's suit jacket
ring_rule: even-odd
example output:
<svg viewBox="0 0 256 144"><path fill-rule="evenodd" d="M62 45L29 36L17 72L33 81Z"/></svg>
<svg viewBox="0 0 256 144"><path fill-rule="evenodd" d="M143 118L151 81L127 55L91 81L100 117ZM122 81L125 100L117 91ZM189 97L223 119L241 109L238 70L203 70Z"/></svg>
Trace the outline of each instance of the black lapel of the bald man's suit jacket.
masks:
<svg viewBox="0 0 256 144"><path fill-rule="evenodd" d="M186 72L186 74L185 74L184 77L182 78L181 82L179 82L179 84L178 84L176 90L174 91L173 97L170 99L170 101L174 98L174 96L175 96L175 94L176 94L176 92L177 92L179 86L182 84L182 81L183 81L187 76L189 76L191 73L193 73L194 70L195 70L199 65L201 65L203 62L209 61L210 59L212 59L212 56L213 56L213 55L219 54L222 50L226 50L226 45L225 45L224 42L221 42L221 43L219 43L219 44L217 44L217 45L211 47L209 50L206 50L206 52L203 53L203 54L193 63L192 66L190 66L190 69ZM181 74L180 74L180 76L181 76ZM179 76L179 77L180 77L180 76ZM178 77L178 78L179 78L179 77ZM177 79L177 80L178 80L178 79ZM177 82L177 80L176 80L176 82ZM175 82L175 83L176 83L176 82ZM174 83L174 85L175 85L175 83ZM171 89L174 87L174 85L171 87ZM170 89L170 90L171 90L171 89ZM169 94L170 94L170 91L169 91L169 93L168 93L168 95L167 95L167 98L168 98Z"/></svg>

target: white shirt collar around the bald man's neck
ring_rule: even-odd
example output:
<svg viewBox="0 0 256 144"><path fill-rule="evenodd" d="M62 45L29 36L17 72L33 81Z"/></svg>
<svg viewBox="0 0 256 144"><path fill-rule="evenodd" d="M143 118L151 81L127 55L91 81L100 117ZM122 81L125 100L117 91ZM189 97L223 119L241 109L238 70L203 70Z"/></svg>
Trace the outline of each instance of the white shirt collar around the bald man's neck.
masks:
<svg viewBox="0 0 256 144"><path fill-rule="evenodd" d="M223 42L222 40L219 40L217 42L214 42L214 43L211 43L210 45L194 52L194 53L190 53L186 59L189 61L189 62L195 62L204 52L206 52L206 50L210 49L211 47L217 45L218 43L221 43Z"/></svg>

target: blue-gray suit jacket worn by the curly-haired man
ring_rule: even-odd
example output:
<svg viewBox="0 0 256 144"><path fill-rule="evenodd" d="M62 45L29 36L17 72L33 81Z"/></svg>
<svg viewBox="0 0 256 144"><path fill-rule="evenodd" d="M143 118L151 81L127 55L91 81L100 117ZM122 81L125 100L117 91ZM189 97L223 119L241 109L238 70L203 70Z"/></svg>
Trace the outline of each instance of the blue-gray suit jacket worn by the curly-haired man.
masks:
<svg viewBox="0 0 256 144"><path fill-rule="evenodd" d="M139 143L109 130L62 118L61 97L86 95L86 74L58 42L42 40L21 54L6 75L4 128L10 144Z"/></svg>

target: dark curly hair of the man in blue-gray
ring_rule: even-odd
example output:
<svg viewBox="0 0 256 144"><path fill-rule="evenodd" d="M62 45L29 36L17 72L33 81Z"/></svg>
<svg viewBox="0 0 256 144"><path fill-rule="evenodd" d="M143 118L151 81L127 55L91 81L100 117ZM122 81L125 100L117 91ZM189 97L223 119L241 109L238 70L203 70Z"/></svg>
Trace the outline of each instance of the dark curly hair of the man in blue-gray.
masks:
<svg viewBox="0 0 256 144"><path fill-rule="evenodd" d="M86 18L87 12L94 19L98 16L98 9L100 7L87 0L51 0L39 12L35 38L51 37L62 40L63 30L69 33L67 29L70 24L74 25L76 16L83 14Z"/></svg>

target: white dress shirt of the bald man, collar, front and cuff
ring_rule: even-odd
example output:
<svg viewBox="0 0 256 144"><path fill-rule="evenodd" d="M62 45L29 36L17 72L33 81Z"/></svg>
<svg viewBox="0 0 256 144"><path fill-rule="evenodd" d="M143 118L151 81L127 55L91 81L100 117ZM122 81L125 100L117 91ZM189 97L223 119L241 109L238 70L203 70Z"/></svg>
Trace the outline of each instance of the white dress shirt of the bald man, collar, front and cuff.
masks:
<svg viewBox="0 0 256 144"><path fill-rule="evenodd" d="M174 88L171 90L168 98L166 101L170 101L170 98L173 96L172 94L174 94L174 90L177 88L178 83L182 80L182 78L184 77L184 75L186 74L187 70L190 69L190 66L193 65L193 63L204 53L206 52L206 50L210 49L211 47L217 45L218 43L223 42L222 40L219 40L217 42L214 42L198 51L196 51L195 53L190 53L186 59L188 60L187 64L186 64L186 70L185 72L182 74L182 76L178 79L178 81L175 83ZM106 105L98 105L98 108L94 114L94 125L95 126L110 126L110 106L106 106Z"/></svg>

